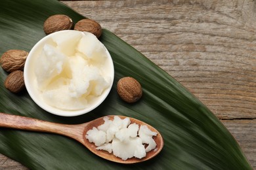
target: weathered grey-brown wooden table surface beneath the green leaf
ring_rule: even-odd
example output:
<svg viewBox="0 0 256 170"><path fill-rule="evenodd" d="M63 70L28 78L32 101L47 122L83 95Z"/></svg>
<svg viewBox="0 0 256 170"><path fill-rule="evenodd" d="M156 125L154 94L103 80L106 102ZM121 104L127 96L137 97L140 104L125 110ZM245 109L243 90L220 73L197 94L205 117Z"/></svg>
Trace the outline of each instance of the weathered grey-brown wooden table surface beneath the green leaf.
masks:
<svg viewBox="0 0 256 170"><path fill-rule="evenodd" d="M256 1L62 1L194 93L256 169ZM26 169L0 155L0 169Z"/></svg>

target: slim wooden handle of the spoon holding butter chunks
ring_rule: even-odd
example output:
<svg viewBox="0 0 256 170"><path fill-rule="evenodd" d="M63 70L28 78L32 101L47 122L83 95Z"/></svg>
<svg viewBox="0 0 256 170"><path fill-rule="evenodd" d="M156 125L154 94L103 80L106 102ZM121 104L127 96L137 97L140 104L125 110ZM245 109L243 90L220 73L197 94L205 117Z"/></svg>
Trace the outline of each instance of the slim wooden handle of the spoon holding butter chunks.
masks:
<svg viewBox="0 0 256 170"><path fill-rule="evenodd" d="M24 129L28 131L41 131L47 133L56 133L77 139L83 135L84 126L56 124L28 118L24 116L16 116L0 112L0 127L9 127L14 129Z"/></svg>

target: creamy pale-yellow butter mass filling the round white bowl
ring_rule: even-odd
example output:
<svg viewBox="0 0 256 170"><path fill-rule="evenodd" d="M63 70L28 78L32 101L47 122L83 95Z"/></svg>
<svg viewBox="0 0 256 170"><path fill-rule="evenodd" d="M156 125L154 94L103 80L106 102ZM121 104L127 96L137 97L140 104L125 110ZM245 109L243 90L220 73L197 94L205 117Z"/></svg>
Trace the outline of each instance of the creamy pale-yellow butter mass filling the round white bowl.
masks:
<svg viewBox="0 0 256 170"><path fill-rule="evenodd" d="M48 105L85 109L111 84L106 48L92 33L70 32L43 46L35 65L37 86Z"/></svg>

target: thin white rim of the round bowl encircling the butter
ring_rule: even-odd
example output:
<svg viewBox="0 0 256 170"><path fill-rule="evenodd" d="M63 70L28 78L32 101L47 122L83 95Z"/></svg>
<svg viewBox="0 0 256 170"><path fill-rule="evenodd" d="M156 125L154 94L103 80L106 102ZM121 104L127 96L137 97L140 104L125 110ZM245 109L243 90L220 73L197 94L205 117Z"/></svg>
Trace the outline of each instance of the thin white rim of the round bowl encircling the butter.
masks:
<svg viewBox="0 0 256 170"><path fill-rule="evenodd" d="M114 71L114 62L110 55L110 52L108 52L108 49L106 48L106 46L104 46L104 48L106 50L106 54L107 54L108 58L110 59L110 71L112 72L112 73L110 73L110 78L111 78L110 86L108 88L106 88L104 90L104 92L102 92L102 94L98 97L97 101L95 101L93 103L93 105L91 105L85 109L81 109L81 110L62 110L62 109L57 109L56 107L52 107L52 106L48 105L47 103L43 102L42 99L39 99L40 97L35 94L36 87L34 87L33 84L30 83L32 81L31 80L32 77L29 76L30 71L31 71L30 66L32 64L32 59L35 57L34 53L37 52L38 48L40 46L42 46L42 44L44 44L47 41L47 39L53 37L56 34L67 33L70 31L76 31L76 30L57 31L57 32L51 33L49 35L46 35L45 37L40 39L30 50L28 57L26 58L25 65L24 65L24 82L25 82L26 90L28 91L30 97L39 107L41 107L41 109L43 109L47 112L50 112L51 114L58 115L58 116L79 116L82 114L86 114L87 112L91 112L91 110L96 109L96 107L98 107L106 99L106 97L108 97L108 94L110 93L112 86L114 84L114 72L115 72ZM76 32L83 33L84 31L76 31ZM100 42L100 43L102 43L102 42Z"/></svg>

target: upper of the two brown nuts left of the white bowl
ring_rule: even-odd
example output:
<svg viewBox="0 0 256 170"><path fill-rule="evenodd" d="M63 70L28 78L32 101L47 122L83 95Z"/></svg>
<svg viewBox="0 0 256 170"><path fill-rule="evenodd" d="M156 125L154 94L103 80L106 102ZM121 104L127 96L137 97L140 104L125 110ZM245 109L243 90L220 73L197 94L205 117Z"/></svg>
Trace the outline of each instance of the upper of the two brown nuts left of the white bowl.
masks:
<svg viewBox="0 0 256 170"><path fill-rule="evenodd" d="M1 59L1 67L7 72L23 70L28 52L24 50L8 50Z"/></svg>

